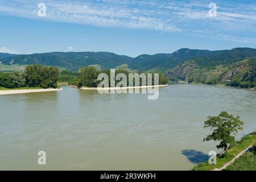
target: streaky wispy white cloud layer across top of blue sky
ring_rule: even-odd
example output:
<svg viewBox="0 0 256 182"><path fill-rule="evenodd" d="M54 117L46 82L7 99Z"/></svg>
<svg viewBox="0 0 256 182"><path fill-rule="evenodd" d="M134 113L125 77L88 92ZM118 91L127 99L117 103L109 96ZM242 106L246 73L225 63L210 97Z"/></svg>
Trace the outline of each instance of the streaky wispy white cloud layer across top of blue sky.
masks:
<svg viewBox="0 0 256 182"><path fill-rule="evenodd" d="M256 3L214 1L217 16L208 15L207 1L46 0L47 16L38 17L38 1L0 1L0 13L58 22L159 32L191 32L209 38L251 42L256 32ZM208 31L210 30L210 31ZM234 33L233 33L234 31ZM238 34L238 32L240 32ZM236 37L237 39L234 39Z"/></svg>

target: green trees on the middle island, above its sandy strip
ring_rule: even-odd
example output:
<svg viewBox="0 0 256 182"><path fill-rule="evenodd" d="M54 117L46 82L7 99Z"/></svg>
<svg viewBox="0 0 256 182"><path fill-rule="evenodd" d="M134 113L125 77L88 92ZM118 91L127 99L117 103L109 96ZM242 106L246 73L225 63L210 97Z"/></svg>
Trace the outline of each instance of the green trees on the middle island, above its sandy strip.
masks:
<svg viewBox="0 0 256 182"><path fill-rule="evenodd" d="M79 71L79 74L67 71L62 71L60 73L61 81L68 81L70 85L75 85L77 87L82 86L88 86L88 87L97 87L98 83L101 82L101 80L97 80L97 77L100 73L106 73L108 77L110 78L110 69L97 71L94 67L84 67L81 68ZM117 76L118 73L123 73L127 77L127 86L129 86L129 72L122 69L115 70L115 76ZM139 72L138 74L141 74L142 72ZM162 73L159 74L159 85L167 84L168 77L163 75ZM146 74L147 76L147 74ZM65 80L67 78L67 80ZM115 80L115 84L117 84L119 80ZM134 81L135 84L135 81ZM142 85L142 80L139 80L139 84ZM152 84L154 85L154 73L152 73ZM110 85L110 79L109 79L109 85Z"/></svg>

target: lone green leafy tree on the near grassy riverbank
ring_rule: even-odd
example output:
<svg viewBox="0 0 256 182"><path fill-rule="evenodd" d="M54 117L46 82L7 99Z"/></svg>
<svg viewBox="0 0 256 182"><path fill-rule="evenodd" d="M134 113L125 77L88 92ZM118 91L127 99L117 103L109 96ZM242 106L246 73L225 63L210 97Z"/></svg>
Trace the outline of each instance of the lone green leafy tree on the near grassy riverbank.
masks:
<svg viewBox="0 0 256 182"><path fill-rule="evenodd" d="M240 121L240 117L236 118L233 115L228 114L226 111L222 111L216 117L208 117L208 120L204 122L204 128L210 127L213 133L204 138L205 141L214 140L220 141L217 148L223 148L225 152L228 152L228 146L236 142L236 134L238 130L242 130L243 122Z"/></svg>

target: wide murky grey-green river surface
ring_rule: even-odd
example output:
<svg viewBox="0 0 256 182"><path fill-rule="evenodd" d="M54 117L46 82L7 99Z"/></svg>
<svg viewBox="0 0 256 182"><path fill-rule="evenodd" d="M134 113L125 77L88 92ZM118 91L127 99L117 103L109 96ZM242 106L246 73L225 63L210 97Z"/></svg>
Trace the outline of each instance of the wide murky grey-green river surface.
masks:
<svg viewBox="0 0 256 182"><path fill-rule="evenodd" d="M191 169L216 143L203 142L208 115L240 115L256 129L256 92L174 84L146 94L59 92L0 96L0 169ZM47 165L37 164L46 151Z"/></svg>

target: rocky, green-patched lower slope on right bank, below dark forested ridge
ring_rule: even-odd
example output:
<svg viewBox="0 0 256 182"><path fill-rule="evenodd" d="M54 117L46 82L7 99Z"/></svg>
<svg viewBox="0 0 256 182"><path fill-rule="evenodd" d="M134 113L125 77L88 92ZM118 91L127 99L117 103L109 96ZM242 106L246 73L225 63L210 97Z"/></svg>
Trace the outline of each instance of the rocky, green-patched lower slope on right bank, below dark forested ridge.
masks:
<svg viewBox="0 0 256 182"><path fill-rule="evenodd" d="M214 67L200 67L194 60L189 60L172 68L167 74L172 80L204 83L230 82L233 80L256 82L256 58Z"/></svg>

